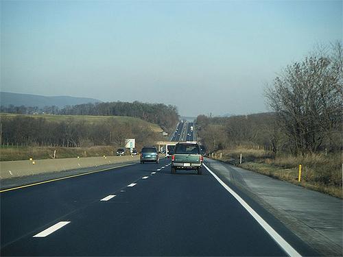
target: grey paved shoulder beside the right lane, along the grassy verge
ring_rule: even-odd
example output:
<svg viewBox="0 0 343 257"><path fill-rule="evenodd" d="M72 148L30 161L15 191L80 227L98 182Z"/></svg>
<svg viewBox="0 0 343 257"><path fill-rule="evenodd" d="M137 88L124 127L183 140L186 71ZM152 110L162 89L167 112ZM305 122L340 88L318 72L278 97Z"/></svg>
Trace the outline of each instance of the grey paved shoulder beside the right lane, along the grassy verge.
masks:
<svg viewBox="0 0 343 257"><path fill-rule="evenodd" d="M341 199L206 158L206 165L237 187L324 256L342 256Z"/></svg>

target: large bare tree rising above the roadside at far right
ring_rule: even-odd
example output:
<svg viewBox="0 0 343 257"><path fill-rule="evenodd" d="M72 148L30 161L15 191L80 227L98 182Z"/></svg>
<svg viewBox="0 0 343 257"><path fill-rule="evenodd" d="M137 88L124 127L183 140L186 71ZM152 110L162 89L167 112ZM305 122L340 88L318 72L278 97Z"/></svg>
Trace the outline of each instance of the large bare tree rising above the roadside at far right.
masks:
<svg viewBox="0 0 343 257"><path fill-rule="evenodd" d="M342 43L286 67L265 96L294 154L320 149L342 122Z"/></svg>

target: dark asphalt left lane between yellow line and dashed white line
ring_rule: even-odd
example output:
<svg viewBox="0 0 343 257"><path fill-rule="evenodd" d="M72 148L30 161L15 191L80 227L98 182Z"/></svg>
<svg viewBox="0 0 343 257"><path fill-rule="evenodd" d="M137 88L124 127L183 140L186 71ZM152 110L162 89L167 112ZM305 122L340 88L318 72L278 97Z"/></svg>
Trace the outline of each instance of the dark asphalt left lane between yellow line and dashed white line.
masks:
<svg viewBox="0 0 343 257"><path fill-rule="evenodd" d="M1 193L1 247L84 208L113 188L125 188L141 175L149 175L150 165L123 167Z"/></svg>

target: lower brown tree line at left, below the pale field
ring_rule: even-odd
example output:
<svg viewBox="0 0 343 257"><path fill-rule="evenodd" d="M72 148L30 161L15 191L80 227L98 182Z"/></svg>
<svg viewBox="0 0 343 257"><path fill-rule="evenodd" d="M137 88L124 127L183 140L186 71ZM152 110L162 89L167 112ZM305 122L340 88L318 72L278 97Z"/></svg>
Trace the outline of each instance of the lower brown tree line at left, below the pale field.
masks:
<svg viewBox="0 0 343 257"><path fill-rule="evenodd" d="M126 138L136 138L140 146L152 145L161 136L150 127L115 120L99 123L84 121L47 121L44 118L4 117L1 139L4 145L91 147L115 145L124 147Z"/></svg>

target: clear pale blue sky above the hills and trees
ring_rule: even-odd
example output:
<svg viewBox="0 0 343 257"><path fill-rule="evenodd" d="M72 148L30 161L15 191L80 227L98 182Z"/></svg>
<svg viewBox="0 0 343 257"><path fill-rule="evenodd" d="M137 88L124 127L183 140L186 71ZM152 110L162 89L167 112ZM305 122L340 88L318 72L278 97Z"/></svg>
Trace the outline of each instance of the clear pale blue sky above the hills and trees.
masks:
<svg viewBox="0 0 343 257"><path fill-rule="evenodd" d="M1 1L1 90L266 111L263 88L342 40L342 1Z"/></svg>

